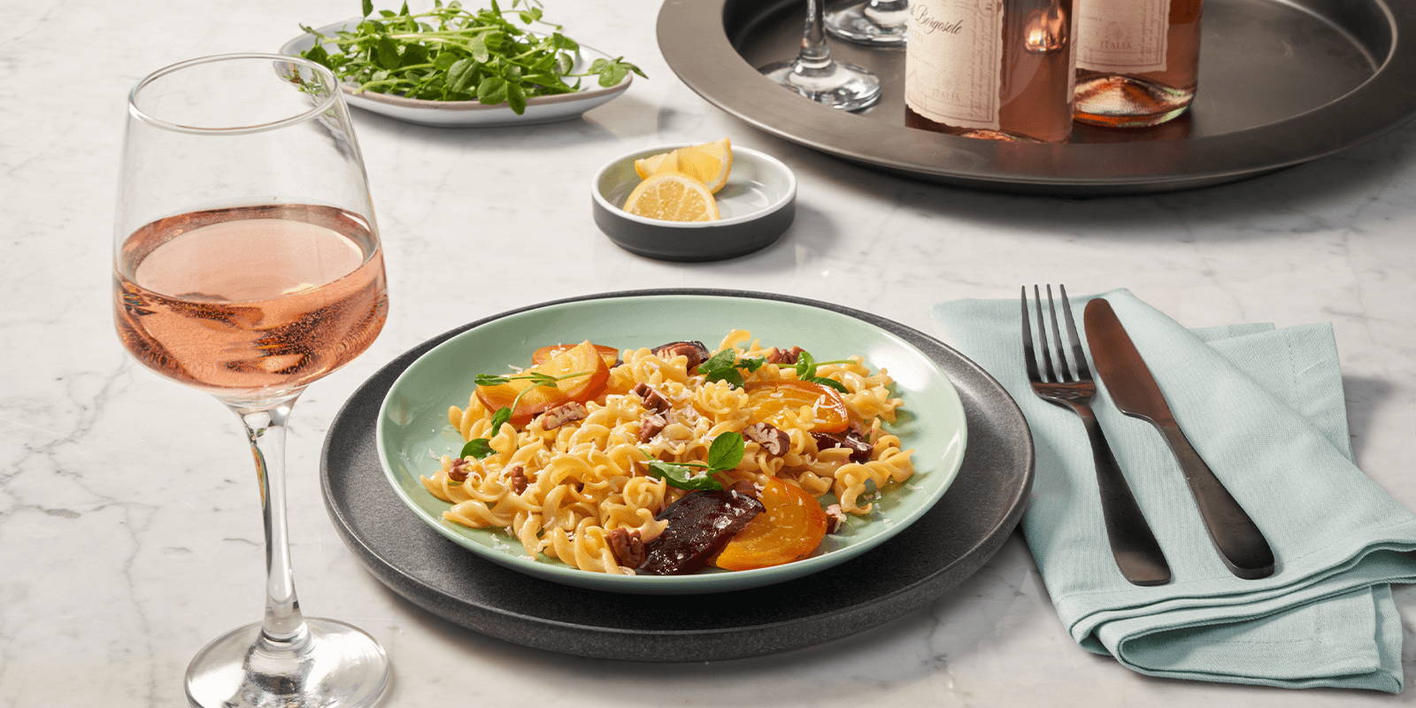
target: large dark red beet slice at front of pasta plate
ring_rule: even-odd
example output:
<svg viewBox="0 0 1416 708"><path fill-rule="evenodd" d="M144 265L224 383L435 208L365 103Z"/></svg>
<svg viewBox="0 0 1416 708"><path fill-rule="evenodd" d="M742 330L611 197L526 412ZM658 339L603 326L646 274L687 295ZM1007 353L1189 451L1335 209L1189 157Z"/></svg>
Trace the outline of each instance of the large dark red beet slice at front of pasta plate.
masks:
<svg viewBox="0 0 1416 708"><path fill-rule="evenodd" d="M687 575L722 549L742 527L760 514L762 503L741 491L694 491L674 501L658 520L667 520L658 538L644 548L640 575Z"/></svg>

